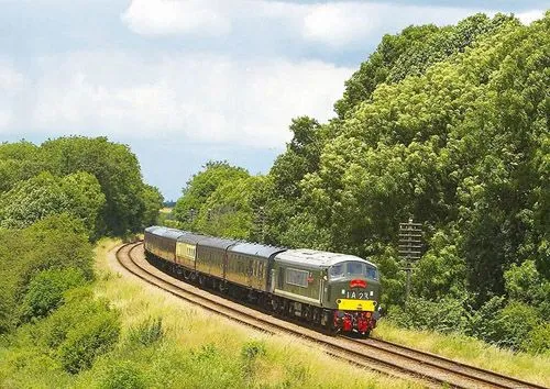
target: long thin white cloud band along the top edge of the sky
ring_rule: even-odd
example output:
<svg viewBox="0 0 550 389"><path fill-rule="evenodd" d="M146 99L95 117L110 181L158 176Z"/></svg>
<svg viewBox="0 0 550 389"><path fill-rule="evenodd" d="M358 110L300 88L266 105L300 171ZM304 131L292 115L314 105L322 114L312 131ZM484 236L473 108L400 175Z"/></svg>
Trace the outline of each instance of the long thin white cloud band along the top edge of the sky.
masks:
<svg viewBox="0 0 550 389"><path fill-rule="evenodd" d="M132 0L123 22L143 35L273 32L332 51L364 47L410 24L453 24L473 9L362 1L293 3L270 0ZM267 27L266 27L267 26ZM242 31L238 31L242 29ZM271 37L268 37L271 38ZM374 42L375 41L375 42Z"/></svg>

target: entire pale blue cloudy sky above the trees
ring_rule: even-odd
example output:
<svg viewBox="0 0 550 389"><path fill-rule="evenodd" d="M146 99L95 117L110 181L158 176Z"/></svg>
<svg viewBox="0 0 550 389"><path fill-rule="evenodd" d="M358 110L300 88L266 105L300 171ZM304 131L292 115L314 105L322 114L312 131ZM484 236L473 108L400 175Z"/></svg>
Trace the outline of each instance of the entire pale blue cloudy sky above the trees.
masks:
<svg viewBox="0 0 550 389"><path fill-rule="evenodd" d="M334 116L384 34L550 0L0 0L0 142L108 136L177 200L206 162L267 173L293 118Z"/></svg>

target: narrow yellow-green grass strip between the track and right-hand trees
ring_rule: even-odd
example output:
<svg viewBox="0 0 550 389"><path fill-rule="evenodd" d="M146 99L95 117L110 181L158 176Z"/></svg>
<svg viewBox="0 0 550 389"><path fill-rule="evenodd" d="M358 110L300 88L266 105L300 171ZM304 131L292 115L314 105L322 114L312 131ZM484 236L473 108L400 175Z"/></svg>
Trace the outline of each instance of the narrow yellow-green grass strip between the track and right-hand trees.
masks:
<svg viewBox="0 0 550 389"><path fill-rule="evenodd" d="M513 353L464 335L396 327L382 320L374 337L439 354L476 367L550 387L550 355Z"/></svg>

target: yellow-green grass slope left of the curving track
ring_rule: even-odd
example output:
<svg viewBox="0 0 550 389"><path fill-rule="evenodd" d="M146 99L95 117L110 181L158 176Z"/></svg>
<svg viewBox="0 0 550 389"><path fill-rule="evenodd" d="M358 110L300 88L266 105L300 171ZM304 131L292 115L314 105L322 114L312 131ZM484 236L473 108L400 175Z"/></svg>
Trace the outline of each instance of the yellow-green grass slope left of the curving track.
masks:
<svg viewBox="0 0 550 389"><path fill-rule="evenodd" d="M120 310L123 341L116 352L80 375L79 387L89 387L90 382L117 387L125 380L147 388L420 387L334 360L295 337L241 326L141 280L121 276L107 259L113 245L103 241L96 251L96 290ZM132 341L136 332L146 338L150 332L158 332L154 324L158 318L163 330L156 342L145 346Z"/></svg>

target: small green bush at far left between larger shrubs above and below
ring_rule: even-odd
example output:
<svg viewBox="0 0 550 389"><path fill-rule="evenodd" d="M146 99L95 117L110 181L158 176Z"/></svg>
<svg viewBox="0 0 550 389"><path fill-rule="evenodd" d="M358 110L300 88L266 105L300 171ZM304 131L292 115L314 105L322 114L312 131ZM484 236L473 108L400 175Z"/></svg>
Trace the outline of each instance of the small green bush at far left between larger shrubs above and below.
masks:
<svg viewBox="0 0 550 389"><path fill-rule="evenodd" d="M86 282L79 269L54 269L38 273L29 285L21 307L23 321L44 318L63 304L63 293Z"/></svg>

